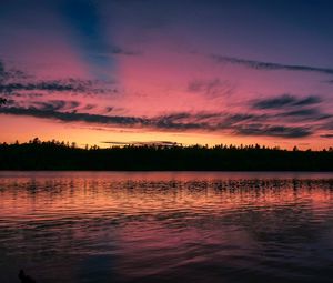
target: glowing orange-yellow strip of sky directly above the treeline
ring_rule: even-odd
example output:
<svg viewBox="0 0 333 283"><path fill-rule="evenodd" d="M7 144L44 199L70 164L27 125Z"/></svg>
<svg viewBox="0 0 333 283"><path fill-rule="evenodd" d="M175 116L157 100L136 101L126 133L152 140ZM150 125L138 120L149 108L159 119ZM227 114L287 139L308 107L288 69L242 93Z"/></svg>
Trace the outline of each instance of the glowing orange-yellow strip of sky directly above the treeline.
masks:
<svg viewBox="0 0 333 283"><path fill-rule="evenodd" d="M121 142L121 143L140 143L140 142L158 142L171 141L181 143L182 145L201 144L214 146L216 144L234 144L234 145L251 145L260 144L270 148L280 146L281 149L292 150L297 146L300 150L322 150L332 146L330 139L326 142L317 141L314 138L299 140L280 140L274 138L261 137L240 137L226 135L219 132L170 132L157 131L150 129L135 128L105 128L104 125L91 125L85 123L63 123L52 120L37 119L30 117L11 117L0 115L1 122L7 124L1 133L1 142L14 143L17 140L20 143L38 137L42 141L59 140L64 142L75 142L79 148L98 145L100 148L112 146L112 143L104 142ZM17 127L17 125L20 127ZM38 129L38 131L36 131Z"/></svg>

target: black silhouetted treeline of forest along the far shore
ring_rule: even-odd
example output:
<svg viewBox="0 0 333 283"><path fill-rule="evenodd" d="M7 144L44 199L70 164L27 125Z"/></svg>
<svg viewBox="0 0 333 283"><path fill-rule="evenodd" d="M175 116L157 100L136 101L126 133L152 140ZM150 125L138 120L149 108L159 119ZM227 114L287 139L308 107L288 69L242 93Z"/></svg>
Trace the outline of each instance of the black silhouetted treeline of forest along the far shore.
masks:
<svg viewBox="0 0 333 283"><path fill-rule="evenodd" d="M292 151L255 145L124 145L100 149L40 141L0 144L0 170L333 171L333 149Z"/></svg>

